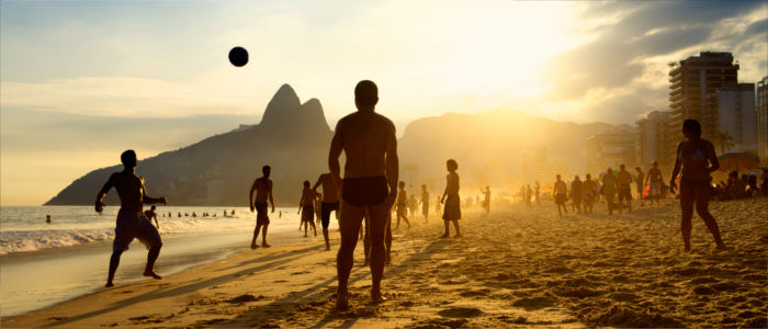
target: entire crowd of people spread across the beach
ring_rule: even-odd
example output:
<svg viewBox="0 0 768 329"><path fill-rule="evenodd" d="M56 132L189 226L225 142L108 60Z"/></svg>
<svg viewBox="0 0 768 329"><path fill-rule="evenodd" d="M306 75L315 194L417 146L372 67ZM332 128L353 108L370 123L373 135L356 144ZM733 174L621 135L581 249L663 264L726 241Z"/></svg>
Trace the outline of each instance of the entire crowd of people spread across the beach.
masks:
<svg viewBox="0 0 768 329"><path fill-rule="evenodd" d="M391 262L393 216L395 217L394 229L399 228L400 222L410 228L419 205L421 205L425 223L429 220L430 209L430 193L426 184L421 185L421 197L417 200L414 194L408 196L405 189L406 183L399 181L395 126L388 118L374 112L379 102L376 84L369 80L360 81L354 89L354 102L358 111L342 117L336 126L328 155L329 171L321 173L314 186L310 186L308 180L304 181L298 201L300 230L303 227L304 235L307 236L309 227L312 227L316 236L315 218L319 214L326 250L330 250L328 236L330 213L335 212L339 222L340 245L337 254L338 290L336 300L338 309L349 307L348 282L358 240L362 237L364 241L365 265L370 266L372 274L371 300L372 303L381 303L385 300L381 292L381 280L385 264ZM682 209L681 235L685 250L690 250L693 209L704 220L716 247L725 248L718 224L708 209L712 194L711 173L720 168L718 157L712 144L700 138L701 126L698 122L685 121L682 134L686 140L678 145L677 158L668 184L664 183L662 171L656 162L652 164L647 173L637 167L633 174L626 170L624 164L621 164L618 170L608 168L606 172L596 178L586 174L584 181L576 175L569 184L557 174L552 198L557 205L558 213L561 216L563 213L567 214L568 206L571 206L572 212L591 214L595 204L600 200L605 200L609 214L612 214L613 211L621 214L624 205L631 212L633 184L639 200L641 202L650 200L653 204L654 201L658 203L665 193L675 193L679 183L678 197ZM339 163L342 151L346 155L343 177ZM137 238L149 249L144 275L157 280L161 279L154 271L155 261L162 246L158 229L150 222L150 218L155 218L157 224L157 215L154 213L155 206L144 213L143 204L166 204L167 200L162 196L151 197L147 195L144 180L135 173L137 158L133 150L123 152L121 160L125 169L110 177L99 191L95 201L95 211L101 213L106 192L112 188L117 190L121 200L113 253L110 259L108 287L113 286L120 257L128 249L128 245L134 238ZM445 169L448 171L445 188L443 193L437 197L438 204L434 207L444 224L443 234L439 238L451 238L451 226L454 229L453 238L461 238L459 223L462 218L462 200L459 195L459 162L454 159L448 159ZM269 214L275 211L272 193L273 182L270 179L272 168L263 166L261 171L262 175L253 181L249 192L249 207L251 212L256 212L256 228L250 243L251 249L270 247L267 242ZM678 174L680 175L678 177ZM736 184L741 183L732 182L729 179L729 184L725 188ZM754 188L756 184L752 183L749 179L745 185L746 188L735 189L739 193L729 195L742 196L742 192L747 195L757 193L758 190ZM320 186L321 193L317 191ZM766 193L765 186L764 171L761 190L764 194ZM485 189L481 189L481 193L484 196L483 201L477 197L475 203L481 204L485 214L488 215L492 200L490 188L486 185ZM539 204L542 194L544 193L542 193L539 182L535 182L533 188L523 185L520 190L521 200L528 206L531 206L532 202ZM467 204L472 202L472 197L468 197ZM269 212L270 207L271 212ZM226 211L223 214L228 215ZM193 217L195 215L192 214ZM208 214L204 213L203 215ZM235 211L231 211L231 216L234 215ZM169 213L168 216L170 217L172 214ZM181 213L178 216L181 216ZM159 228L159 224L157 227ZM261 235L261 243L257 245L259 235Z"/></svg>

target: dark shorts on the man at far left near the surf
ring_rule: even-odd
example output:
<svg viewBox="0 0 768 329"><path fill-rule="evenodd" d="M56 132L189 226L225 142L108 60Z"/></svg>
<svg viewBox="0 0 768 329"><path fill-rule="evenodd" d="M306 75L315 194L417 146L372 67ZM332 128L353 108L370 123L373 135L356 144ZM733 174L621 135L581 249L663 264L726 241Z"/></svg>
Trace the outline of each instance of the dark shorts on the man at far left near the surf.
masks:
<svg viewBox="0 0 768 329"><path fill-rule="evenodd" d="M128 246L138 239L147 248L160 246L162 240L157 228L144 216L142 212L129 212L121 209L117 213L115 225L115 239L112 243L113 251L128 250Z"/></svg>

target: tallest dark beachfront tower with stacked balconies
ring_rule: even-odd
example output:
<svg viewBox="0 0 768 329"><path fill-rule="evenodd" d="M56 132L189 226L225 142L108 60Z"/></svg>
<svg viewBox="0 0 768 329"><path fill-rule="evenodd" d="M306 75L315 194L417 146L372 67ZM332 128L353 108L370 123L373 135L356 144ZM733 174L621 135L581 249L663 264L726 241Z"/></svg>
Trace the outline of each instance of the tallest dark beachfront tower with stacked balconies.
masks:
<svg viewBox="0 0 768 329"><path fill-rule="evenodd" d="M704 138L716 132L718 114L708 105L709 94L725 86L737 83L738 64L731 53L700 53L679 63L673 63L669 70L669 120L670 132L679 132L682 122L694 118L701 123ZM709 112L708 112L709 111ZM668 157L675 157L676 139L669 138Z"/></svg>

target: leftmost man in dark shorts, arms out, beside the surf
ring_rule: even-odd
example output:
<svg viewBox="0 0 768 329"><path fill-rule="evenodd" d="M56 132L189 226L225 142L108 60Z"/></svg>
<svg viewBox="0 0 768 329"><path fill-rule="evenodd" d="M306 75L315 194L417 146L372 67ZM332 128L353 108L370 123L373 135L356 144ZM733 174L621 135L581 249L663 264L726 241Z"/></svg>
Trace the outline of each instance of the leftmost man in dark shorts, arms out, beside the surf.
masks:
<svg viewBox="0 0 768 329"><path fill-rule="evenodd" d="M144 179L136 174L136 152L132 149L124 151L120 156L124 169L110 175L110 179L101 188L95 200L95 211L101 213L104 209L104 197L112 188L117 190L120 196L120 211L117 212L117 225L115 227L115 238L112 243L112 257L110 258L110 273L106 276L108 287L114 286L115 271L120 264L120 257L128 246L137 238L149 248L147 253L147 265L144 268L144 276L151 276L160 280L162 276L155 273L155 261L160 256L162 240L157 228L147 220L142 212L143 204L166 204L165 196L151 197L144 189Z"/></svg>

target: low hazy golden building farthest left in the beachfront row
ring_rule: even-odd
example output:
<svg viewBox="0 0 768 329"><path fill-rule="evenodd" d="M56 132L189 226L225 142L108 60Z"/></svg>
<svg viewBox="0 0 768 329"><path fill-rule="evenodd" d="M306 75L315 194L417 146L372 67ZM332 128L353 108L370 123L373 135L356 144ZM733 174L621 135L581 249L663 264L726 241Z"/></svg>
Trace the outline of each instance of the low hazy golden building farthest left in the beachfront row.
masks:
<svg viewBox="0 0 768 329"><path fill-rule="evenodd" d="M635 161L635 133L621 131L587 136L587 172L594 177L607 168L624 163L633 168Z"/></svg>

